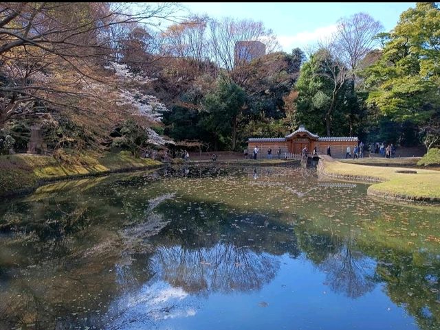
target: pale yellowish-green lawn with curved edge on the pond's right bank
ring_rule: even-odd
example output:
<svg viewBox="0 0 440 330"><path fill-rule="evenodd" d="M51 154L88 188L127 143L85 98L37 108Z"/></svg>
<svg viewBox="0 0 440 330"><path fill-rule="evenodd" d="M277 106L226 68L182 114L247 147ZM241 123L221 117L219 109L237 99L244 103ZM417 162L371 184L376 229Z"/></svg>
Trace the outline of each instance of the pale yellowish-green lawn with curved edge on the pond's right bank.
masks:
<svg viewBox="0 0 440 330"><path fill-rule="evenodd" d="M371 185L368 193L388 198L408 200L432 200L440 202L440 173L430 169L412 169L417 174L404 174L408 167L378 167L357 165L322 157L322 172L345 180L382 182Z"/></svg>

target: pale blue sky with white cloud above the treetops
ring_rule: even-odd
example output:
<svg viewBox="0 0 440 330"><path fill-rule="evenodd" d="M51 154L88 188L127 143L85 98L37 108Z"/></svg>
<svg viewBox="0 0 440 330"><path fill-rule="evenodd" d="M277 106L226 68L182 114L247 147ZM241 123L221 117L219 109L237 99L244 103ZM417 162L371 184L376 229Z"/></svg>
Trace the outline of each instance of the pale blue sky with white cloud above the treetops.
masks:
<svg viewBox="0 0 440 330"><path fill-rule="evenodd" d="M344 16L366 12L384 25L384 31L395 27L399 16L413 2L393 3L181 3L195 14L208 14L219 19L230 16L236 19L263 21L278 36L283 51L304 48L316 43L336 30L336 22Z"/></svg>

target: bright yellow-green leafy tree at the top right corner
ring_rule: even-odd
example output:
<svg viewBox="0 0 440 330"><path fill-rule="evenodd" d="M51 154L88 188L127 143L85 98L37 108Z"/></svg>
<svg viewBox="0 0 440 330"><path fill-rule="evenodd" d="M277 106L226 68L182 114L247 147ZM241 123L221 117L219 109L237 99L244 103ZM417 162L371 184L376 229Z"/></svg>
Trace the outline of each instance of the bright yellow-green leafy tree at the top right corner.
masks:
<svg viewBox="0 0 440 330"><path fill-rule="evenodd" d="M382 57L363 73L371 89L367 102L396 121L427 123L440 108L438 5L417 3L381 36Z"/></svg>

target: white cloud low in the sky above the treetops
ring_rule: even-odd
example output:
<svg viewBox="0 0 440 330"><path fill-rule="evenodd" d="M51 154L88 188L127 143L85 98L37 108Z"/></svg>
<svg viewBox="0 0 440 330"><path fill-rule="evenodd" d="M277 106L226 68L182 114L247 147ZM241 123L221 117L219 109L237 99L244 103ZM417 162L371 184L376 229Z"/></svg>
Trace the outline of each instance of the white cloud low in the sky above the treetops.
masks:
<svg viewBox="0 0 440 330"><path fill-rule="evenodd" d="M333 32L336 32L336 24L318 27L314 31L303 31L294 34L293 36L278 36L278 41L283 47L284 51L290 52L296 47L305 47L316 43L318 40L327 38Z"/></svg>

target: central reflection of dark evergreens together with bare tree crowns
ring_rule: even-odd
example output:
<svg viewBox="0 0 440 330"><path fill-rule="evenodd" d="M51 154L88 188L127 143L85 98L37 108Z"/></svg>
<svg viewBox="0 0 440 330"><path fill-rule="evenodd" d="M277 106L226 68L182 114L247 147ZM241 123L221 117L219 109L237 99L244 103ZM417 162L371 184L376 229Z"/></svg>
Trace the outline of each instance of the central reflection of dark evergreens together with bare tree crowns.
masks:
<svg viewBox="0 0 440 330"><path fill-rule="evenodd" d="M151 238L151 272L186 292L260 290L280 268L276 256L299 255L293 228L278 224L277 217L232 212L213 203L172 205L157 209L174 220Z"/></svg>

